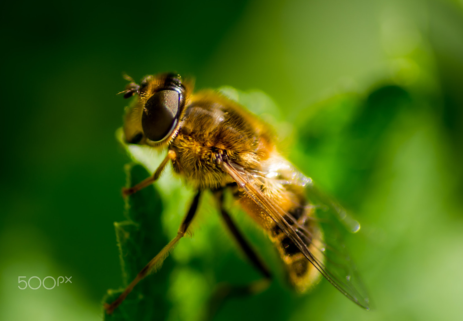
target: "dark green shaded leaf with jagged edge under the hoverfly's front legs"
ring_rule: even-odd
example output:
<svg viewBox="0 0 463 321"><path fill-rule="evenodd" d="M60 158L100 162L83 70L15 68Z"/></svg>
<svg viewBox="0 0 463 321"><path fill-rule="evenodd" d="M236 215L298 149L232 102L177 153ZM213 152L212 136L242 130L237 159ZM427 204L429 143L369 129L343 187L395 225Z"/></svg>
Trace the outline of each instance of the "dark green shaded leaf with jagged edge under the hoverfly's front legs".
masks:
<svg viewBox="0 0 463 321"><path fill-rule="evenodd" d="M141 165L133 164L126 166L126 173L127 186L134 186L150 175ZM108 290L103 302L116 300L146 263L169 242L162 231L162 211L161 197L154 186L148 186L126 199L127 220L114 222L123 284L118 290ZM163 269L147 276L150 282L139 282L112 315L105 314L104 320L165 320L171 305L166 293L172 265L168 257Z"/></svg>

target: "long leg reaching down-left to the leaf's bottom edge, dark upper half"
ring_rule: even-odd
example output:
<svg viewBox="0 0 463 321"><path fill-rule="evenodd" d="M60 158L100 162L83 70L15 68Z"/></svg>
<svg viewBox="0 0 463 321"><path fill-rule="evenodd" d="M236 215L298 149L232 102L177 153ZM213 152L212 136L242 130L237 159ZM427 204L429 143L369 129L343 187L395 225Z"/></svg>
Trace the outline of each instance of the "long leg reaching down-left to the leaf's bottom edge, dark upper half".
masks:
<svg viewBox="0 0 463 321"><path fill-rule="evenodd" d="M135 279L125 288L124 292L111 304L105 304L105 310L107 314L112 314L114 309L119 306L124 300L125 297L131 292L131 290L137 285L138 282L144 279L145 276L149 275L150 272L156 271L157 269L161 268L166 257L169 256L171 250L175 248L177 242L185 235L186 231L188 230L188 226L190 225L191 221L194 218L194 214L196 214L196 210L198 208L198 203L200 199L201 191L194 196L193 202L190 205L187 215L183 218L181 225L178 229L177 236L172 239L164 248L157 253L156 257L154 257L145 267L138 272L138 275Z"/></svg>

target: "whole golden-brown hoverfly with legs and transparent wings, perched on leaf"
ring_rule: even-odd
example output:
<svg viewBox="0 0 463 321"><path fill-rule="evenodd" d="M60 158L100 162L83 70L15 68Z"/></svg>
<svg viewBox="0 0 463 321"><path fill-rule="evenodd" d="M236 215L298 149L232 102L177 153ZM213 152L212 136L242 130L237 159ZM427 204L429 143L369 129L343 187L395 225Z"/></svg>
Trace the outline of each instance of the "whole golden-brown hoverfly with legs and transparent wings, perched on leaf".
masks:
<svg viewBox="0 0 463 321"><path fill-rule="evenodd" d="M167 155L151 177L123 189L123 194L127 196L150 186L169 162L173 171L197 193L177 236L138 273L116 301L105 305L107 313L112 313L140 280L163 263L187 232L200 195L206 190L213 193L227 227L263 275L263 280L249 285L247 293L265 289L271 273L228 214L224 205L226 190L267 232L297 292L305 292L324 276L347 298L369 310L368 295L337 239L337 229L331 225L322 228L337 217L338 222L356 231L357 221L279 154L275 135L266 123L219 92L203 90L193 94L193 84L174 73L146 76L139 84L130 77L127 80L130 83L122 93L125 98L135 96L136 100L125 114L125 141L166 150Z"/></svg>

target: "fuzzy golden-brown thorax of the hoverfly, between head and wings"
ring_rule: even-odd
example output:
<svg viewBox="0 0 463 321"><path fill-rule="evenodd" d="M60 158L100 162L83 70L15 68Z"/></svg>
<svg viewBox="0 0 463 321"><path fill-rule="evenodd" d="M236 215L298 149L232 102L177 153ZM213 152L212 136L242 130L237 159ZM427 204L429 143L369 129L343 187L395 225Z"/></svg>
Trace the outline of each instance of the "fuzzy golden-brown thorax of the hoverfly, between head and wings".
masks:
<svg viewBox="0 0 463 321"><path fill-rule="evenodd" d="M217 162L221 155L243 167L258 168L275 148L268 128L256 116L220 98L217 93L196 95L169 147L177 155L174 171L201 189L232 181Z"/></svg>

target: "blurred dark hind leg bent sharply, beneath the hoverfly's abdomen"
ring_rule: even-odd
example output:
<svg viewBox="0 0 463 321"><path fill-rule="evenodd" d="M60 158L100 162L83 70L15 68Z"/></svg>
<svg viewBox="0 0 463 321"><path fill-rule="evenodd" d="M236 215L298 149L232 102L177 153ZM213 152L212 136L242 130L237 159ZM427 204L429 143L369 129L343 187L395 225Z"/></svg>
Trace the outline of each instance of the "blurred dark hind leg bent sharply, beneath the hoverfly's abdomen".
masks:
<svg viewBox="0 0 463 321"><path fill-rule="evenodd" d="M249 243L244 239L241 232L238 230L236 225L233 223L232 218L225 210L223 204L223 190L220 189L216 191L215 196L219 202L219 210L222 214L222 217L225 220L225 224L227 225L228 229L232 232L233 237L238 242L241 249L244 251L244 254L250 259L252 265L263 275L263 279L251 282L250 284L243 285L243 286L236 286L231 285L228 283L220 284L217 289L215 290L211 301L209 303L209 315L207 320L211 320L217 310L219 309L220 305L225 301L227 297L232 296L243 296L243 295L254 295L258 294L265 289L267 289L270 285L272 280L272 275L269 269L265 266L262 260L257 256L257 253L251 248Z"/></svg>

